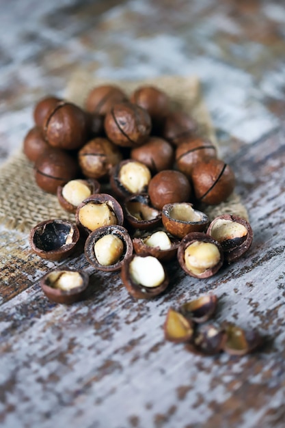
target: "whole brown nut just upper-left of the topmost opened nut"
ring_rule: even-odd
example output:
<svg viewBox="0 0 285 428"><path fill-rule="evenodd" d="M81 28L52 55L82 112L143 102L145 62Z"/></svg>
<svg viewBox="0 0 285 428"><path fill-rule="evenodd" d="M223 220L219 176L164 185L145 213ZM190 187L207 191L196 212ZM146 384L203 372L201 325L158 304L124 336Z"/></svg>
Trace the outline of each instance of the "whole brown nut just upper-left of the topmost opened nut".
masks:
<svg viewBox="0 0 285 428"><path fill-rule="evenodd" d="M78 160L83 174L98 180L108 176L113 166L122 161L122 153L107 138L98 137L79 150Z"/></svg>

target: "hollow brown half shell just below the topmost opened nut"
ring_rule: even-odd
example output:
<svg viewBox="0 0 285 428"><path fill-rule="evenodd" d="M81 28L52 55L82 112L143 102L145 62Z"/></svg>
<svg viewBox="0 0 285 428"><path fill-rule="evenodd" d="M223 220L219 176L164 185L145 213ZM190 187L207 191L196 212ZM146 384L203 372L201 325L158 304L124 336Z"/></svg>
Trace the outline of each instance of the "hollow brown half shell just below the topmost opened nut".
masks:
<svg viewBox="0 0 285 428"><path fill-rule="evenodd" d="M150 205L148 193L131 195L123 204L128 224L139 230L151 230L161 223L161 211Z"/></svg>

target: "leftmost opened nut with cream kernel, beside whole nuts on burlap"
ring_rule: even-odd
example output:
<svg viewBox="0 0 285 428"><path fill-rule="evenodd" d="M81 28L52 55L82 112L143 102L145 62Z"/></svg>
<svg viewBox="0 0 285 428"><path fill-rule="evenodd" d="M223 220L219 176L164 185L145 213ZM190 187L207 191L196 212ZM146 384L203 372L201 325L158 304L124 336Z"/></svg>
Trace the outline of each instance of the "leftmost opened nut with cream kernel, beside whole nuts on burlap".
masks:
<svg viewBox="0 0 285 428"><path fill-rule="evenodd" d="M70 180L57 187L57 199L68 213L75 213L77 206L86 198L100 191L100 183L89 178L88 180Z"/></svg>

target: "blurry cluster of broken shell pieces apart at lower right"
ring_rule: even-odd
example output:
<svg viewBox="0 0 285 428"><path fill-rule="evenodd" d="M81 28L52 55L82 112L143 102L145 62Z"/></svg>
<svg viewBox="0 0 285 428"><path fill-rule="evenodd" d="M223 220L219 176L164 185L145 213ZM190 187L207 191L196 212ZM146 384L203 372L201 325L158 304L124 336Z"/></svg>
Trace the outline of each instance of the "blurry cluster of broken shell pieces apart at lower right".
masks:
<svg viewBox="0 0 285 428"><path fill-rule="evenodd" d="M169 308L164 323L165 339L185 343L188 351L202 356L213 356L221 351L243 356L260 347L262 338L257 330L245 331L229 322L204 324L213 317L217 302L216 295L204 295L182 304L177 310Z"/></svg>

